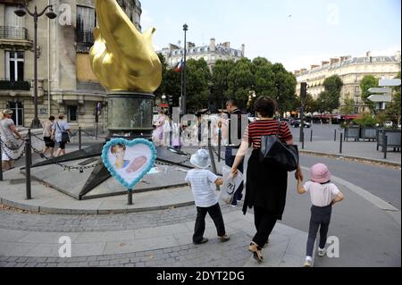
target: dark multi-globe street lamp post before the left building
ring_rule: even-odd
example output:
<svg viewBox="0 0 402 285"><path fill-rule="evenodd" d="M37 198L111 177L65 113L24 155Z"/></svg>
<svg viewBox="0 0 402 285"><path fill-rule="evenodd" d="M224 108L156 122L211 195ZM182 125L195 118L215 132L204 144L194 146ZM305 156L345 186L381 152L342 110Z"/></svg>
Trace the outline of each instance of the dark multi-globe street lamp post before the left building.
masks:
<svg viewBox="0 0 402 285"><path fill-rule="evenodd" d="M46 17L49 19L54 19L57 15L53 12L53 6L47 5L42 12L38 13L37 5L35 5L35 12L31 13L28 9L27 4L20 5L20 7L14 11L18 17L24 17L27 13L34 19L34 107L35 114L32 120L31 129L41 128L41 124L38 118L38 18L42 16L46 10L50 8L50 11L46 13ZM49 91L47 91L49 92Z"/></svg>

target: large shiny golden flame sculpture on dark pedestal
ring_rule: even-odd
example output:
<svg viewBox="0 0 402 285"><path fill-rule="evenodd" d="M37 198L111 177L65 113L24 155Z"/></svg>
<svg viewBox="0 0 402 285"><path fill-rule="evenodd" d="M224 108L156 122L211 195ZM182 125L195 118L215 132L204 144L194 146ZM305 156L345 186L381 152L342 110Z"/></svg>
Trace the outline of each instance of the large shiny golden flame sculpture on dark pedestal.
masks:
<svg viewBox="0 0 402 285"><path fill-rule="evenodd" d="M89 58L102 86L153 93L162 81L162 64L152 46L155 28L141 34L115 0L96 0L96 17Z"/></svg>

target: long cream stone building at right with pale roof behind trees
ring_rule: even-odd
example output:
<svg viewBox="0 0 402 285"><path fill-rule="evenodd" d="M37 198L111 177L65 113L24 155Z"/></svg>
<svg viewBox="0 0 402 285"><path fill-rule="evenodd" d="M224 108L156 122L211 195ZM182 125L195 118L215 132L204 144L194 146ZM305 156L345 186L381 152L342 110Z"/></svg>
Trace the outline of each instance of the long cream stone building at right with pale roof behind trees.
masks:
<svg viewBox="0 0 402 285"><path fill-rule="evenodd" d="M323 81L332 75L339 75L343 82L340 93L340 107L346 98L354 99L354 113L365 113L369 109L361 97L360 82L365 75L373 75L378 79L392 79L400 71L400 52L393 56L372 56L370 52L364 57L339 56L319 65L311 65L310 70L294 71L297 83L306 82L308 93L314 99L324 90ZM297 84L297 95L300 94L300 84ZM338 113L338 110L334 111Z"/></svg>

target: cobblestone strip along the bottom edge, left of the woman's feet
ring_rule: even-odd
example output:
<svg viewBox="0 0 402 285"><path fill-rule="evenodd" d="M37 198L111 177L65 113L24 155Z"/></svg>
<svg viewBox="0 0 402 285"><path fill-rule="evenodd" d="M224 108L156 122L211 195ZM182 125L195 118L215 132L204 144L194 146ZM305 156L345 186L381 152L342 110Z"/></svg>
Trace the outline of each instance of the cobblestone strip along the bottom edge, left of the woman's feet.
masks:
<svg viewBox="0 0 402 285"><path fill-rule="evenodd" d="M241 267L250 257L250 238L234 234L222 246L217 239L204 245L141 251L122 255L83 256L71 258L0 256L0 267Z"/></svg>

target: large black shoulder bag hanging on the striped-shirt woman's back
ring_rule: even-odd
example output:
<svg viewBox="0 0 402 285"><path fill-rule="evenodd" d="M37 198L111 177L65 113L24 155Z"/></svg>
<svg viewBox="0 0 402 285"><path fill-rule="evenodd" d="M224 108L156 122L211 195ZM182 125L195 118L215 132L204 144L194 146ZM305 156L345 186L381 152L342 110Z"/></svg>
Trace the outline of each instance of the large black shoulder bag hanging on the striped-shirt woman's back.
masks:
<svg viewBox="0 0 402 285"><path fill-rule="evenodd" d="M260 161L272 163L288 172L296 171L298 166L297 146L281 142L279 138L281 123L278 122L278 125L276 135L261 137Z"/></svg>

